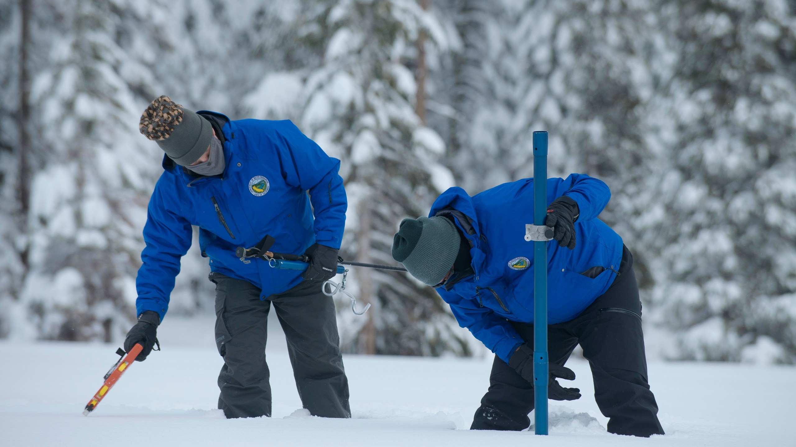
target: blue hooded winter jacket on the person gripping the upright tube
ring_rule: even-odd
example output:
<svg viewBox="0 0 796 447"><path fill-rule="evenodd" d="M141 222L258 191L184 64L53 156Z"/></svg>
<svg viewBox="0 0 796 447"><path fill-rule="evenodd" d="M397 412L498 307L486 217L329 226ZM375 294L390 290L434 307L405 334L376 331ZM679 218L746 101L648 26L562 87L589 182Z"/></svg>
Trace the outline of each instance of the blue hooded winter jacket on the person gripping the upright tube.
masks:
<svg viewBox="0 0 796 447"><path fill-rule="evenodd" d="M578 203L574 250L548 243L548 323L569 321L605 293L622 259L622 238L601 220L611 191L595 178L572 174L548 179L548 204L560 196ZM450 210L458 210L451 214ZM474 274L437 291L462 328L506 363L523 343L510 321L533 323L533 242L525 224L533 223L533 179L498 185L470 197L461 188L443 192L429 217L448 214L471 243ZM596 278L580 274L606 270Z"/></svg>

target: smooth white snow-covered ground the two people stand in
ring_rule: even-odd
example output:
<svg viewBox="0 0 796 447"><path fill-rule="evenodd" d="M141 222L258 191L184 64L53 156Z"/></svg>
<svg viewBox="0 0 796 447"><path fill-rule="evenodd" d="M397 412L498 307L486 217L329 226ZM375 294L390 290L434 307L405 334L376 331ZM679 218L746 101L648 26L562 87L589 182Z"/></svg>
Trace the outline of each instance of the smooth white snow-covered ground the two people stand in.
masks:
<svg viewBox="0 0 796 447"><path fill-rule="evenodd" d="M163 352L135 363L88 418L115 345L0 343L0 445L796 445L796 368L743 364L651 363L668 434L650 439L605 431L583 360L568 363L583 398L551 401L549 437L467 430L489 358L345 356L353 418L314 418L300 410L278 325L267 349L273 417L227 420L215 409L212 331L210 318L167 318Z"/></svg>

